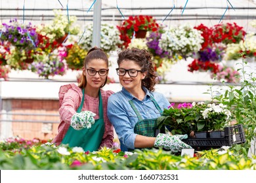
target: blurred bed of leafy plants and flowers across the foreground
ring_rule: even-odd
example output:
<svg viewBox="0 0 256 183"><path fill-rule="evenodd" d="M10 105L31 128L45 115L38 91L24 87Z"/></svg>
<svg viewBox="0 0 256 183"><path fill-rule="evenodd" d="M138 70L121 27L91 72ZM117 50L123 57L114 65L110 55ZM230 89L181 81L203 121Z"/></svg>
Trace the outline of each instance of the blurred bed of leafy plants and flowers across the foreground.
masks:
<svg viewBox="0 0 256 183"><path fill-rule="evenodd" d="M161 149L132 153L102 148L97 152L83 152L79 147L54 146L49 142L26 147L16 145L3 150L4 142L0 143L0 169L256 170L256 158L247 158L241 145L197 152L193 158L171 155Z"/></svg>

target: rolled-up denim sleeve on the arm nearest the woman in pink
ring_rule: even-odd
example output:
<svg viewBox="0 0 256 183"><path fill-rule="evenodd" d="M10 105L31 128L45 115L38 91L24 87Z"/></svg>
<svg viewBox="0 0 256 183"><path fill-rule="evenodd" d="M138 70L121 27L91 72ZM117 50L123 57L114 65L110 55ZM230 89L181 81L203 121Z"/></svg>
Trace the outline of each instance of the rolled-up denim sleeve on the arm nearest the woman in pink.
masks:
<svg viewBox="0 0 256 183"><path fill-rule="evenodd" d="M119 141L125 144L127 148L134 149L137 134L134 133L125 105L123 101L120 101L118 95L114 94L108 98L108 119L114 126Z"/></svg>

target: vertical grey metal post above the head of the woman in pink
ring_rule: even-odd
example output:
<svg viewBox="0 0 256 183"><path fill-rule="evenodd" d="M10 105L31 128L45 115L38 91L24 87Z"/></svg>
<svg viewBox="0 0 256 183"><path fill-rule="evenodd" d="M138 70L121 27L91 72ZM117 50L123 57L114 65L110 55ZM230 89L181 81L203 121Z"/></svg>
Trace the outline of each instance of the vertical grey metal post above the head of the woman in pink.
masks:
<svg viewBox="0 0 256 183"><path fill-rule="evenodd" d="M101 0L96 0L93 8L93 47L100 48L100 20L101 20Z"/></svg>

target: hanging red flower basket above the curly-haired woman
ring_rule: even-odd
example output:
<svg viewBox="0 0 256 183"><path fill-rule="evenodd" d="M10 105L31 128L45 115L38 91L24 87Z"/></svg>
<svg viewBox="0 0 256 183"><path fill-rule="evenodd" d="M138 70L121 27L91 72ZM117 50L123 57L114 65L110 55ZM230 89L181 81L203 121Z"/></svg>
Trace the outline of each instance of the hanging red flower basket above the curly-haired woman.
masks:
<svg viewBox="0 0 256 183"><path fill-rule="evenodd" d="M157 31L159 28L156 19L152 16L139 15L139 16L129 16L127 20L124 20L121 26L117 26L120 32L121 41L123 46L127 48L133 35L135 33L136 38L145 38L147 31Z"/></svg>

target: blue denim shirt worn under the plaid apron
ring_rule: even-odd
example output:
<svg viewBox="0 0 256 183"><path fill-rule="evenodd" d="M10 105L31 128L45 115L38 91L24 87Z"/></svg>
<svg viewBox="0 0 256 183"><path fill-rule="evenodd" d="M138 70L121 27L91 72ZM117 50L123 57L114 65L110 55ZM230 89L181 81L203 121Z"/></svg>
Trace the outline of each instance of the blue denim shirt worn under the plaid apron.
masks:
<svg viewBox="0 0 256 183"><path fill-rule="evenodd" d="M125 88L122 88L121 91L110 95L108 98L108 119L112 125L114 125L121 145L125 145L126 148L135 148L134 144L137 134L134 133L134 127L139 121L135 111L129 104L130 100L133 100L135 107L137 110L139 110L143 119L158 118L161 116L153 101L150 99L150 95L154 97L161 110L170 105L169 101L164 97L163 94L158 92L150 92L146 88L142 89L146 93L142 101L131 95L131 93L127 92ZM127 149L123 148L121 150Z"/></svg>

